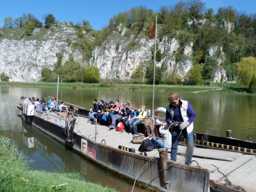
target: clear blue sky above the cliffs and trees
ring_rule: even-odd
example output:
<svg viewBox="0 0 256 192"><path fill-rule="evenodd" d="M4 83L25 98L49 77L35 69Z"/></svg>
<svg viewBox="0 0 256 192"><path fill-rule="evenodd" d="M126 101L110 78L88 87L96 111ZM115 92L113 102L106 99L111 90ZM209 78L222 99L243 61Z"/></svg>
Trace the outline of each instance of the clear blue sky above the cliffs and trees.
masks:
<svg viewBox="0 0 256 192"><path fill-rule="evenodd" d="M20 17L31 13L44 23L42 16L51 13L60 22L89 20L93 29L107 26L113 15L128 11L132 7L145 5L157 12L162 5L174 6L180 0L3 0L0 6L0 27L4 18ZM186 1L186 0L184 0ZM233 6L237 11L255 13L256 0L202 0L206 8Z"/></svg>

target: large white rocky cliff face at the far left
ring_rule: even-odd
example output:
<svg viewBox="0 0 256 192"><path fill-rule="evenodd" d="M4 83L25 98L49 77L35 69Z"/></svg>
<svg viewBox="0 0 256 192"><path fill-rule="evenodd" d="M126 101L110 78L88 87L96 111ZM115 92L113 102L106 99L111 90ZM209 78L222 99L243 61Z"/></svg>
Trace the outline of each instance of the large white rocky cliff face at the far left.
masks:
<svg viewBox="0 0 256 192"><path fill-rule="evenodd" d="M41 30L35 29L32 35L38 35ZM44 41L0 39L0 71L9 77L9 81L40 81L41 69L52 70L57 53L63 52L62 63L69 58L72 50L67 38L71 41L76 38L75 31L68 24L60 24L47 31ZM79 60L81 55L74 54L74 58Z"/></svg>

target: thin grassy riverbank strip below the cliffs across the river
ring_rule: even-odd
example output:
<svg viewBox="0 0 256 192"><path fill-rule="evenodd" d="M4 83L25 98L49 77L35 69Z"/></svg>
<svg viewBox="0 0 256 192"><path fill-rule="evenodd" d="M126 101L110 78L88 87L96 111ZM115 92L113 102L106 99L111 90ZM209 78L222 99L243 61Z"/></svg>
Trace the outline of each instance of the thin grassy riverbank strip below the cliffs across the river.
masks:
<svg viewBox="0 0 256 192"><path fill-rule="evenodd" d="M9 87L56 87L57 83L16 83L16 82L0 82L0 86ZM219 87L219 90L216 90ZM156 85L155 91L163 92L198 92L209 91L211 93L239 93L249 94L243 87L238 84L226 84L228 89L222 90L222 83L212 83L210 86L181 86L181 85ZM84 84L84 83L59 83L59 88L76 88L76 89L109 89L109 90L153 90L153 85L148 84Z"/></svg>

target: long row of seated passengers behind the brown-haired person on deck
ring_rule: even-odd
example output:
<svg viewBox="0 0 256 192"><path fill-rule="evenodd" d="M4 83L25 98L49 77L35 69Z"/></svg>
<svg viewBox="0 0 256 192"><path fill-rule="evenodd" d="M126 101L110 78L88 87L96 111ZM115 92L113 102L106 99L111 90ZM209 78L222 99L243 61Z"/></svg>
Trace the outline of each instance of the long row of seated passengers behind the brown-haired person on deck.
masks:
<svg viewBox="0 0 256 192"><path fill-rule="evenodd" d="M139 111L139 112L138 112ZM138 135L137 125L139 125L145 117L147 112L145 105L140 106L140 110L136 111L133 105L129 103L121 103L119 100L115 102L101 99L99 102L97 99L93 100L93 108L89 112L89 120L91 124L95 125L97 119L98 125L107 124L110 129L115 129L117 122L122 121L129 134ZM93 119L95 118L95 119Z"/></svg>

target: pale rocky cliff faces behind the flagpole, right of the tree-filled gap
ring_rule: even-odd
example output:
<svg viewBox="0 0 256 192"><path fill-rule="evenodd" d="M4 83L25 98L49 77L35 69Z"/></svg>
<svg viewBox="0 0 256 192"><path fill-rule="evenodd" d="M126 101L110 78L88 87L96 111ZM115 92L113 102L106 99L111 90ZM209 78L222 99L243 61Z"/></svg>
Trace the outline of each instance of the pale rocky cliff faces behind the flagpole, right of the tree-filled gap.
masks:
<svg viewBox="0 0 256 192"><path fill-rule="evenodd" d="M137 38L134 39L125 37L125 28L119 27L119 32L112 35L105 42L104 46L96 47L93 50L92 58L90 58L90 65L96 66L100 69L100 77L102 79L130 79L132 73L140 64L147 65L153 58L151 48L154 47L154 39ZM114 38L113 38L114 37ZM134 46L127 49L130 45ZM175 52L179 48L179 42L175 39L163 38L161 41L157 40L158 49L164 57L161 61L156 63L157 67L161 67L165 61L167 64L166 73L174 72L175 76L184 78L188 71L192 69L192 46L193 42L184 47L184 59L176 63ZM221 54L217 54L221 52ZM218 55L221 55L220 57ZM224 81L227 79L226 71L220 65L224 59L224 53L221 47L212 46L209 49L209 56L214 57L218 61L218 67L215 70L214 82L219 82L221 76Z"/></svg>

